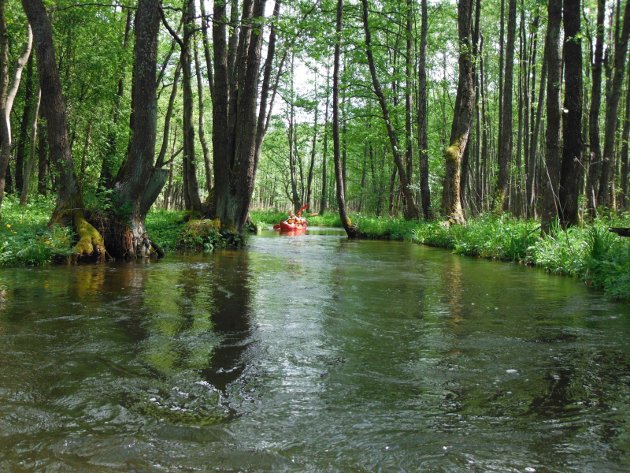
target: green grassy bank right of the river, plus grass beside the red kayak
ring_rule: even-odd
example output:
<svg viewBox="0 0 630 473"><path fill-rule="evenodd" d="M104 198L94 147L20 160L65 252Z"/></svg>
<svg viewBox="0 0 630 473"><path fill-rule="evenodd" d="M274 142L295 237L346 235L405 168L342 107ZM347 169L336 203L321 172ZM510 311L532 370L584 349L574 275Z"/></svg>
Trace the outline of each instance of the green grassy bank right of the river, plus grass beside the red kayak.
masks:
<svg viewBox="0 0 630 473"><path fill-rule="evenodd" d="M252 212L255 222L274 223L273 212ZM481 216L466 226L351 215L363 238L411 241L455 254L513 261L577 278L609 297L630 300L630 239L610 227L630 227L630 216L600 217L592 224L540 234L540 223L511 216ZM309 218L310 225L341 227L337 214Z"/></svg>

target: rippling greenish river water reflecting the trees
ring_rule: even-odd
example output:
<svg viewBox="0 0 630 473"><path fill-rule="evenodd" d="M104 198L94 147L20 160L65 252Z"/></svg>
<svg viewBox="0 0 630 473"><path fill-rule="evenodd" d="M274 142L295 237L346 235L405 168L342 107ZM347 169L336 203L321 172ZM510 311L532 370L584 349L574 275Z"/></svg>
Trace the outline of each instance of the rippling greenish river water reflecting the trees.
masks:
<svg viewBox="0 0 630 473"><path fill-rule="evenodd" d="M3 269L0 471L630 471L630 306L335 230Z"/></svg>

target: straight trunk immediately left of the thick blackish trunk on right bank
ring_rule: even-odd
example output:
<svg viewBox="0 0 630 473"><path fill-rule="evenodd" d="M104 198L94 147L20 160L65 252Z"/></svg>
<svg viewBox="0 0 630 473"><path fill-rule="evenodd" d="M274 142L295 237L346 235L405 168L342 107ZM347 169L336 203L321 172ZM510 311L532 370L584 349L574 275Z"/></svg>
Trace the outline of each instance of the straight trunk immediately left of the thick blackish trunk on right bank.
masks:
<svg viewBox="0 0 630 473"><path fill-rule="evenodd" d="M541 223L547 233L558 216L558 184L560 180L560 90L562 54L560 52L560 23L562 0L549 0L547 40L545 50L549 78L547 80L547 137L546 169L544 169L543 208Z"/></svg>

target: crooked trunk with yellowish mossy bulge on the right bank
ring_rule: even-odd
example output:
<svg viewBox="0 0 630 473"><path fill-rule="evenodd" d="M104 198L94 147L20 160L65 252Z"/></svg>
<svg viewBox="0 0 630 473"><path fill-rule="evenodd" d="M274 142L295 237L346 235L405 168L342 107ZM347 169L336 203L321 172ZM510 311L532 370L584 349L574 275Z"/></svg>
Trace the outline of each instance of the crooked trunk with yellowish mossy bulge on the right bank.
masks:
<svg viewBox="0 0 630 473"><path fill-rule="evenodd" d="M442 192L442 212L457 224L465 223L460 199L460 173L464 150L472 127L475 106L471 22L473 0L460 0L457 5L459 33L459 79L453 112L450 145L444 152L446 174Z"/></svg>

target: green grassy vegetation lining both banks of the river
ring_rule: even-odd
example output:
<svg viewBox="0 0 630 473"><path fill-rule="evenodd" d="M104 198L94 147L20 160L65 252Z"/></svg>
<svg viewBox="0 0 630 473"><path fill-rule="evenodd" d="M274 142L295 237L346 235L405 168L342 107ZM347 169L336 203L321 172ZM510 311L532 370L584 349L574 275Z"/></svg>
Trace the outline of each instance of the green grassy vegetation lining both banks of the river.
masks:
<svg viewBox="0 0 630 473"><path fill-rule="evenodd" d="M20 207L12 196L2 204L0 265L60 263L72 254L74 235L67 228L49 230L53 210L48 199L35 199ZM154 210L147 217L147 230L165 251L190 248L212 250L222 245L211 225L190 225L184 212ZM278 223L286 213L253 211L258 228ZM630 227L630 215L602 217L582 227L554 229L540 235L533 220L510 216L482 216L466 226L446 227L439 222L406 222L402 219L352 215L363 238L404 240L452 250L456 254L515 261L544 268L552 274L575 277L601 288L615 299L630 300L630 239L608 231ZM336 213L309 218L310 225L341 227Z"/></svg>

